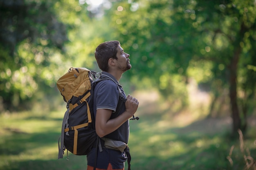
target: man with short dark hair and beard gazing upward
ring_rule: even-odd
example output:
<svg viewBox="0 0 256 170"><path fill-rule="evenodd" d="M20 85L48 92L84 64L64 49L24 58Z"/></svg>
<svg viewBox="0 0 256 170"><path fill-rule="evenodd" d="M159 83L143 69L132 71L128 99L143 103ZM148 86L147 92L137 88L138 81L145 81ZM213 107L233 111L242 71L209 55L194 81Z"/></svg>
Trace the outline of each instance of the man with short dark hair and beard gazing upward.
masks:
<svg viewBox="0 0 256 170"><path fill-rule="evenodd" d="M102 76L112 79L100 81L94 88L95 129L99 137L125 144L128 143L129 138L129 118L135 114L139 105L134 97L130 95L126 97L119 84L122 74L132 67L129 57L129 54L124 53L119 41L104 42L95 50L95 58ZM117 104L120 91L126 102L122 103L119 111ZM96 157L96 170L124 170L124 162L127 159L125 152L106 148L103 140L101 144L103 151L100 152L98 149L97 156L97 148L93 148L87 155L87 170L93 170Z"/></svg>

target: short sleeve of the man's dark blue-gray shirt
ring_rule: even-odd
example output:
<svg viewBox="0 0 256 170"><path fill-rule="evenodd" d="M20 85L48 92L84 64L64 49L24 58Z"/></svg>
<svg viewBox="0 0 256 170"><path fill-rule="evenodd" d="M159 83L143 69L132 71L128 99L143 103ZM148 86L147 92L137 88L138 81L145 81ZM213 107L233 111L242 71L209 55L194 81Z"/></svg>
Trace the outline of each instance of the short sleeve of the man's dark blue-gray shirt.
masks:
<svg viewBox="0 0 256 170"><path fill-rule="evenodd" d="M119 99L117 84L111 80L103 80L97 84L95 91L96 109L110 109L114 113Z"/></svg>

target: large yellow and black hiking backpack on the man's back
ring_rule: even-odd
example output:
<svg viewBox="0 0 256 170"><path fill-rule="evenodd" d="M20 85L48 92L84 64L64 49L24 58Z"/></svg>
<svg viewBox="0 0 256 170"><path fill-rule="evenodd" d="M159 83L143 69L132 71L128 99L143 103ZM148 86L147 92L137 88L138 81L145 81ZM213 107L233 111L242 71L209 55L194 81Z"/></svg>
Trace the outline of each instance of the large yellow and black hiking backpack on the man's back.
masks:
<svg viewBox="0 0 256 170"><path fill-rule="evenodd" d="M96 77L96 72L87 68L71 67L56 83L64 101L67 102L67 111L58 141L58 159L63 158L65 149L74 155L87 155L92 147L98 147L98 145L100 151L102 149L94 125L93 89L97 82L112 79L110 77L96 79ZM119 111L122 102L125 102L125 98L119 89L117 104Z"/></svg>

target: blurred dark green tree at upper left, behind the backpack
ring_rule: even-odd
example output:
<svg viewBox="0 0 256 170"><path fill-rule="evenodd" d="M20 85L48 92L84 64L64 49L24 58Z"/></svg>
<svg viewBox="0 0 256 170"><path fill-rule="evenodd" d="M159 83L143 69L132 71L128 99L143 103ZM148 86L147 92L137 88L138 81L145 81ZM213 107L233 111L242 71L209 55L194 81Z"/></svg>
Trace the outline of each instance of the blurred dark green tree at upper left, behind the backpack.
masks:
<svg viewBox="0 0 256 170"><path fill-rule="evenodd" d="M68 69L65 64L71 65L64 57L67 31L75 31L76 17L85 20L86 12L75 0L0 1L0 96L4 109L24 104L38 89L51 91L49 86L54 87L58 72Z"/></svg>

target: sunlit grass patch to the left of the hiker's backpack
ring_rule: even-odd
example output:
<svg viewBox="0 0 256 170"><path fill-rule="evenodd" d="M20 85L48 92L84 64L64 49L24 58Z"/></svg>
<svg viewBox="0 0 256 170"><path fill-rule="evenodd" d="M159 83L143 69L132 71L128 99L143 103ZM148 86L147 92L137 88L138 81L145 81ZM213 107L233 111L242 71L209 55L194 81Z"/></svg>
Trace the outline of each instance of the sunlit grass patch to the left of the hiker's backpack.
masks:
<svg viewBox="0 0 256 170"><path fill-rule="evenodd" d="M0 167L13 170L22 162L30 165L33 161L56 159L60 122L61 118L54 112L48 115L31 112L1 115L0 159L4 161L0 161ZM22 168L17 166L17 169Z"/></svg>

